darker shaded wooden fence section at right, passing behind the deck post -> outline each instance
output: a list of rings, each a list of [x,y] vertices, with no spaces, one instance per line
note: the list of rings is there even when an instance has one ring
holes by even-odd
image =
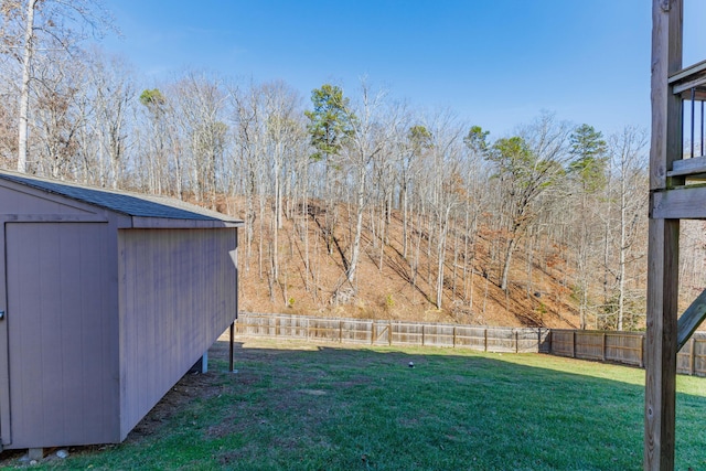
[[[644,367],[644,332],[552,329],[553,355]],[[676,355],[677,373],[706,376],[706,333],[696,332]]]

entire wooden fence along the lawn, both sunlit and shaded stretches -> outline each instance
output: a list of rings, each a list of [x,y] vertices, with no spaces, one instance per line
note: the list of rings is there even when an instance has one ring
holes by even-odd
[[[644,332],[486,328],[249,312],[239,314],[235,329],[243,335],[367,345],[448,346],[482,352],[539,352],[644,367]],[[678,352],[676,368],[682,374],[706,376],[706,332],[696,332]]]

